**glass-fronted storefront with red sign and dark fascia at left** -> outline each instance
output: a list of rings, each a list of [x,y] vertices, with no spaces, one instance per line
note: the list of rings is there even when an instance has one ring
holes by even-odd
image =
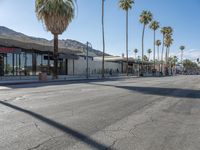
[[[75,54],[60,53],[58,70],[68,74],[68,60],[78,59]],[[0,46],[0,76],[31,76],[53,72],[53,52]]]

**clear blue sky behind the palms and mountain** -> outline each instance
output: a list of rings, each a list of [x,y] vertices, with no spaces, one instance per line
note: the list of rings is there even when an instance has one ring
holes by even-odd
[[[52,39],[35,16],[34,0],[0,0],[0,26],[6,26],[27,35]],[[60,39],[89,41],[96,49],[102,49],[101,0],[77,0],[78,11],[68,29]],[[105,2],[106,51],[114,55],[125,52],[125,13],[118,7],[118,0]],[[139,15],[142,10],[150,10],[161,26],[174,29],[173,54],[179,46],[185,45],[187,57],[200,57],[200,0],[135,0],[129,13],[129,50],[141,52],[142,25]],[[161,34],[157,32],[157,39]],[[145,51],[153,49],[153,32],[145,32]]]

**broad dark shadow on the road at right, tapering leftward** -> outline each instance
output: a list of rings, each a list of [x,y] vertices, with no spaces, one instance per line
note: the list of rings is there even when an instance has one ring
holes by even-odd
[[[121,88],[121,89],[126,89],[132,92],[138,92],[138,93],[149,94],[149,95],[200,99],[200,90],[193,90],[193,89],[142,87],[142,86],[141,87],[140,86],[118,86],[118,85],[108,85],[108,84],[98,84],[98,83],[90,83],[90,84]]]

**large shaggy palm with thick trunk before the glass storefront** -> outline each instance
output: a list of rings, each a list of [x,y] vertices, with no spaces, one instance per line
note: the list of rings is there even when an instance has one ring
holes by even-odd
[[[75,0],[35,0],[35,12],[47,31],[54,36],[54,72],[58,78],[58,35],[62,34],[74,18]]]

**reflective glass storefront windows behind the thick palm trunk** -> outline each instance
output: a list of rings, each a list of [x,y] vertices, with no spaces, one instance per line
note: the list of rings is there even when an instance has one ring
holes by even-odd
[[[2,53],[0,58],[0,73],[6,76],[30,76],[45,72],[53,74],[52,53],[38,53],[21,50],[20,53]],[[58,73],[67,74],[67,60],[58,60]]]

